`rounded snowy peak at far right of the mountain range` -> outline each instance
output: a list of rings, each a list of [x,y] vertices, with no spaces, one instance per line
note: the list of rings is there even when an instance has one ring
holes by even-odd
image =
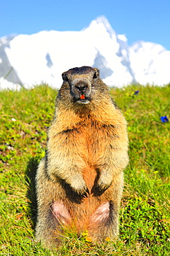
[[[160,44],[139,41],[129,48],[131,68],[135,73],[136,81],[141,84],[168,84],[169,57],[170,51]]]

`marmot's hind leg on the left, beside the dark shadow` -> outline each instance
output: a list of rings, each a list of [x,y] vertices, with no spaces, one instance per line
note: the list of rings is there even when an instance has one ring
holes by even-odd
[[[56,200],[57,183],[47,179],[43,158],[36,174],[38,216],[36,223],[36,241],[49,247],[61,244],[63,227],[70,223],[70,214],[62,201]]]

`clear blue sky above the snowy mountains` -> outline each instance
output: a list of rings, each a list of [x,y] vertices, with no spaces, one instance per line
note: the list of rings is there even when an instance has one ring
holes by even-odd
[[[0,37],[41,30],[81,30],[100,15],[107,17],[128,44],[138,40],[170,50],[169,0],[1,0]]]

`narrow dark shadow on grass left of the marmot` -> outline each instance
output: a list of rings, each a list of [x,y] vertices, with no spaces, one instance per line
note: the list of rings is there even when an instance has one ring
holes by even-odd
[[[36,188],[35,188],[35,176],[36,176],[36,169],[39,165],[39,158],[33,157],[30,158],[28,162],[27,169],[25,172],[25,180],[28,183],[28,192],[27,198],[30,204],[30,217],[32,219],[33,227],[36,226],[36,215],[37,215],[37,205],[36,205]]]

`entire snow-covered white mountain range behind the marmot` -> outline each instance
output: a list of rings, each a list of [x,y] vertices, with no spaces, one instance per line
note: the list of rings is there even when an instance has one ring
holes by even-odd
[[[41,31],[0,38],[0,88],[30,88],[45,82],[59,88],[61,73],[94,66],[109,86],[130,82],[168,84],[170,51],[150,42],[128,46],[105,17],[81,31]]]

